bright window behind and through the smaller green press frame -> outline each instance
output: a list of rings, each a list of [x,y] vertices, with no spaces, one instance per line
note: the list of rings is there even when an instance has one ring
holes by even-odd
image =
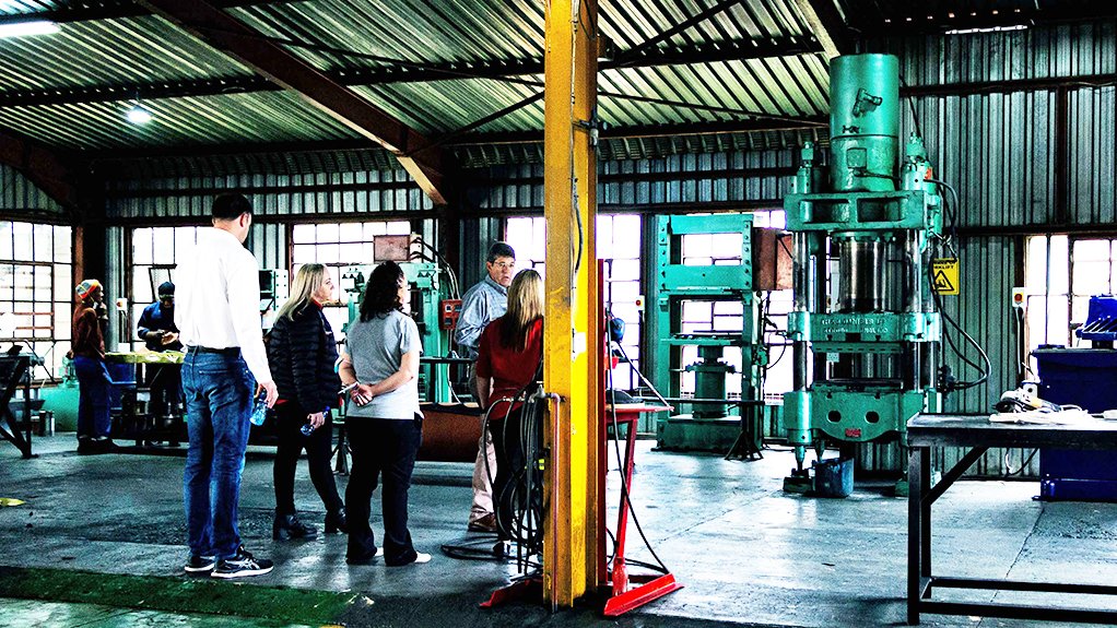
[[[753,226],[765,229],[784,229],[784,212],[756,211],[753,214]],[[682,238],[682,263],[685,265],[736,265],[741,263],[741,234],[701,233]],[[764,383],[766,396],[779,396],[791,390],[792,360],[786,339],[787,312],[792,308],[792,291],[779,290],[765,292],[762,299],[765,326],[764,342],[768,350],[768,366]],[[684,334],[701,331],[734,332],[744,327],[744,311],[741,302],[733,301],[684,301],[681,307],[682,321],[679,330]],[[725,347],[723,359],[741,373],[741,347]],[[698,347],[684,347],[680,354],[682,366],[698,361]],[[695,374],[684,371],[679,389],[684,395],[694,394]],[[741,378],[729,377],[726,380],[726,395],[729,398],[741,397]]]

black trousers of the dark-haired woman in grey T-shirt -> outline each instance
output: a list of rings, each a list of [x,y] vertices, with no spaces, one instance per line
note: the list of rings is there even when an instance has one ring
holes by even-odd
[[[422,442],[422,418],[350,417],[345,419],[345,434],[353,452],[353,466],[345,489],[350,526],[347,557],[359,559],[376,551],[369,518],[372,492],[382,480],[384,563],[414,562],[417,553],[408,530],[408,489]]]

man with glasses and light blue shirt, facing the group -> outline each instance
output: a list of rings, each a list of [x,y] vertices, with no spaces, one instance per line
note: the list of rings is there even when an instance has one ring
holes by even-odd
[[[477,359],[477,346],[485,327],[504,316],[508,309],[508,286],[516,274],[516,251],[506,242],[489,247],[485,263],[488,274],[461,297],[461,315],[454,332],[454,341],[461,348],[462,357]],[[476,381],[476,363],[469,367],[469,386]],[[474,390],[476,398],[477,392]],[[484,410],[484,408],[481,408]],[[488,431],[481,431],[474,463],[474,503],[469,509],[470,532],[496,532],[493,511],[493,483],[496,476],[496,451]]]

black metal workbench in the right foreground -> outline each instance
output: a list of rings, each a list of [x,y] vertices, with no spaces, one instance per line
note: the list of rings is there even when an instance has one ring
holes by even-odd
[[[919,624],[922,612],[1005,617],[1046,621],[1117,624],[1117,610],[993,602],[956,602],[932,599],[935,588],[1044,593],[1117,595],[1117,587],[1066,581],[1034,582],[934,576],[930,566],[930,506],[992,447],[1060,447],[1117,450],[1117,422],[1086,421],[1073,425],[991,423],[989,415],[920,415],[907,424],[908,482],[908,624]],[[943,479],[930,486],[930,448],[968,450]],[[1058,578],[1063,574],[1056,574]]]

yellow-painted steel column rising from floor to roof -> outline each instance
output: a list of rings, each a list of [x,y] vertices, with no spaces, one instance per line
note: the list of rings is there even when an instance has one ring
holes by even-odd
[[[598,574],[596,156],[590,123],[596,105],[596,0],[544,0],[544,214],[547,224],[543,379],[562,397],[548,413],[544,596],[569,607]],[[553,407],[553,406],[552,406]],[[556,425],[557,423],[557,425]],[[603,461],[600,461],[603,462]]]

